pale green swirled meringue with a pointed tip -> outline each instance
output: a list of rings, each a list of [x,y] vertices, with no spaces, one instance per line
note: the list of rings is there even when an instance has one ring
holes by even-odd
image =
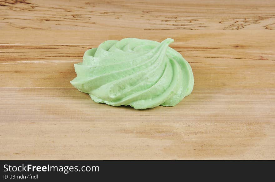
[[[71,84],[97,103],[135,109],[175,106],[193,90],[191,66],[168,45],[137,38],[105,41],[74,65]]]

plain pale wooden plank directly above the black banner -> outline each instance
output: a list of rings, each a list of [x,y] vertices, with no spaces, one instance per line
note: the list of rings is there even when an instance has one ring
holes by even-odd
[[[274,122],[66,120],[1,123],[0,158],[274,159]]]

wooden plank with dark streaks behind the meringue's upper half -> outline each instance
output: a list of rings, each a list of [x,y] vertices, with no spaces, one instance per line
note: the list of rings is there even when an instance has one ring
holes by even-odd
[[[162,41],[168,33],[93,31],[91,35],[89,31],[29,30],[16,38],[20,30],[9,31],[6,35],[4,32],[0,31],[0,39],[10,40],[10,44],[0,44],[1,87],[62,88],[73,88],[69,83],[76,76],[73,64],[82,61],[85,50],[108,39],[120,40],[133,35]],[[41,32],[44,36],[40,38]],[[175,39],[171,47],[192,66],[195,88],[275,88],[271,79],[275,64],[274,31],[268,34],[250,31],[249,35],[246,31],[169,31],[169,36]]]

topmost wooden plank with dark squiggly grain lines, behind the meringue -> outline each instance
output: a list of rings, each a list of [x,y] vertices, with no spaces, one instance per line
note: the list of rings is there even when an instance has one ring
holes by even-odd
[[[275,2],[56,1],[0,2],[0,27],[37,30],[273,30]]]

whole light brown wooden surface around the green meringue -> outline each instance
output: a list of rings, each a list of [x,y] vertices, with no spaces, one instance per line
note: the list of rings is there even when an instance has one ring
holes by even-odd
[[[275,1],[0,1],[0,159],[275,159]],[[69,81],[106,40],[190,63],[175,107],[93,102]]]

